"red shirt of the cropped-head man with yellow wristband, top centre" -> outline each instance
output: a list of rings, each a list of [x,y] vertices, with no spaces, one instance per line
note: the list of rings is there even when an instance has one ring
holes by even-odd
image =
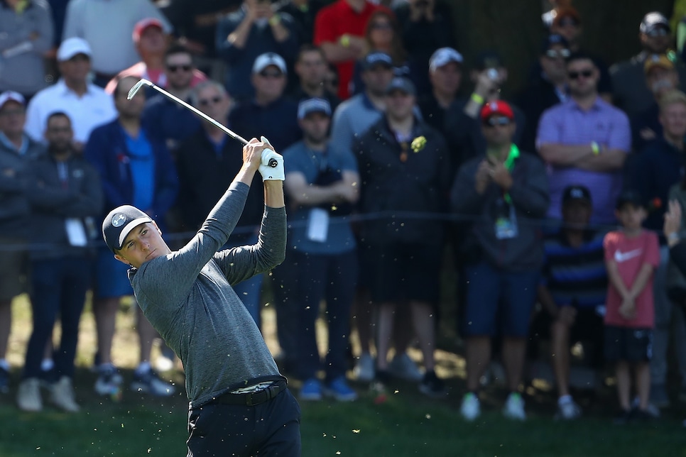
[[[338,70],[338,97],[350,97],[349,83],[355,60],[365,52],[364,29],[369,16],[385,6],[368,0],[337,0],[322,8],[315,18],[315,45],[320,46],[329,62]]]

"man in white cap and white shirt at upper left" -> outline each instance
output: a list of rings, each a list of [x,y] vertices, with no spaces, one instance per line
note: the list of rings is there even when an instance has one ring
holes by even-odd
[[[103,89],[88,81],[91,48],[82,38],[67,38],[58,48],[57,60],[62,77],[36,94],[28,104],[26,132],[43,141],[45,123],[55,111],[72,119],[75,149],[82,150],[94,127],[116,118],[114,100]]]

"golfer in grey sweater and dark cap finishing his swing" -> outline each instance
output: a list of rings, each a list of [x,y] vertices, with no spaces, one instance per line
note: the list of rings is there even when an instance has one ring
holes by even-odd
[[[143,314],[183,362],[187,456],[300,456],[300,407],[286,389],[263,337],[232,285],[285,257],[283,158],[253,138],[243,166],[186,246],[168,248],[155,221],[122,206],[102,223],[114,257],[131,265],[129,280]],[[217,252],[241,216],[259,172],[264,214],[253,246]]]

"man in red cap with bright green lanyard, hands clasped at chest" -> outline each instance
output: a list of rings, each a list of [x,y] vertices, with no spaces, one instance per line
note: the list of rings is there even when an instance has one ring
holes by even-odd
[[[540,159],[512,143],[516,125],[510,105],[489,101],[479,119],[486,150],[460,167],[450,195],[452,210],[468,221],[461,246],[467,394],[460,412],[469,421],[481,414],[479,378],[491,360],[491,336],[498,332],[510,390],[503,414],[524,420],[519,384],[543,263],[539,224],[548,210],[548,177]]]

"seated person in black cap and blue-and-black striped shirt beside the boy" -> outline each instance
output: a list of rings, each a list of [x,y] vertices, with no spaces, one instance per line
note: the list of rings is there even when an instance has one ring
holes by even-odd
[[[538,286],[538,314],[530,334],[550,329],[550,360],[557,387],[557,419],[577,419],[581,408],[570,395],[570,348],[577,341],[593,343],[592,367],[603,362],[601,306],[607,292],[604,263],[604,231],[593,230],[589,221],[591,192],[570,185],[562,195],[562,226],[545,238],[545,263]]]

